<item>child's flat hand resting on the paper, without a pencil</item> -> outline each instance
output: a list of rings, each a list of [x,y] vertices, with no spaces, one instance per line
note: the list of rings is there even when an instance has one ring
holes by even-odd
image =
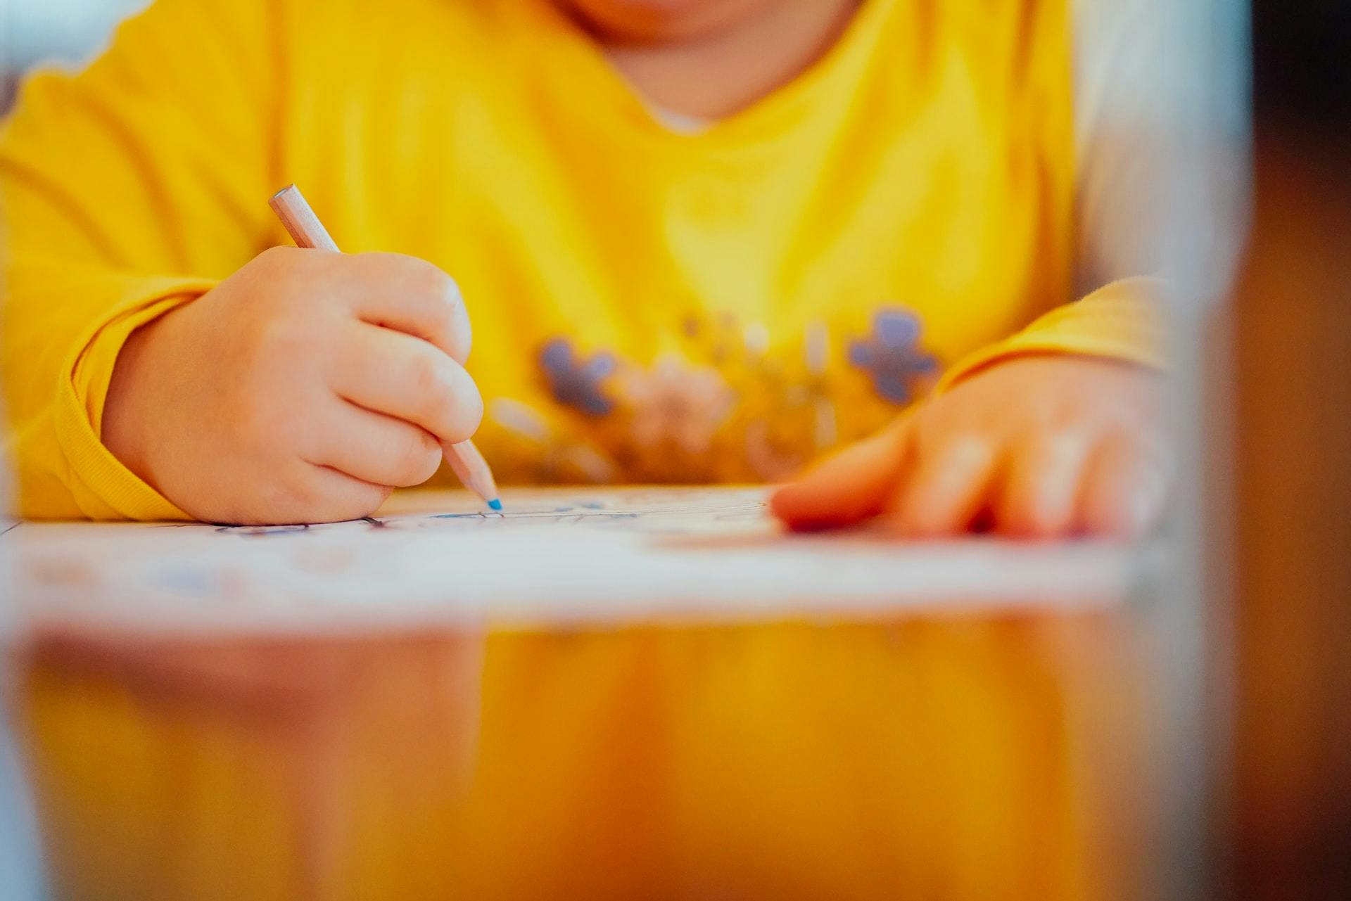
[[[797,530],[882,515],[915,536],[988,524],[1019,536],[1138,535],[1163,507],[1159,377],[1085,357],[1023,357],[924,401],[773,498]]]

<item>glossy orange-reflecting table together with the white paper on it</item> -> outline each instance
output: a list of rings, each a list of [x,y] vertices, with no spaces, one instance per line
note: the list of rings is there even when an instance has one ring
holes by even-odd
[[[511,527],[557,551],[511,573],[493,542],[413,525],[462,497],[377,517],[392,531],[290,534],[290,581],[267,535],[162,530],[147,569],[143,530],[115,561],[73,527],[16,530],[19,723],[61,896],[1140,892],[1154,686],[1133,552],[796,540],[755,494],[627,490],[596,523]],[[626,505],[646,505],[636,532],[604,519]],[[713,508],[740,513],[690,527]],[[372,542],[380,561],[345,557]],[[361,597],[397,548],[439,562]],[[493,574],[457,584],[459,548]],[[231,584],[239,566],[285,590]]]

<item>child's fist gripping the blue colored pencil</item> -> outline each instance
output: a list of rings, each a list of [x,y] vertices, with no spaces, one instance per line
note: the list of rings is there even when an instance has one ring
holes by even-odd
[[[478,428],[467,355],[465,304],[431,263],[274,247],[132,334],[103,440],[197,519],[365,516]]]

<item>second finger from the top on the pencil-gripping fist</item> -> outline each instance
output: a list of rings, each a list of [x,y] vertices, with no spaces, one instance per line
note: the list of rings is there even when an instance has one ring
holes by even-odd
[[[358,326],[340,339],[328,384],[346,400],[401,419],[455,444],[484,417],[484,400],[465,367],[420,338]]]

